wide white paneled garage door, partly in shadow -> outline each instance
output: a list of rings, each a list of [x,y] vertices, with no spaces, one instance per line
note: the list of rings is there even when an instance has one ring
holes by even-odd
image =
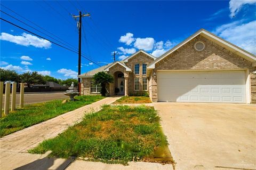
[[[158,72],[158,101],[245,103],[244,71]]]

